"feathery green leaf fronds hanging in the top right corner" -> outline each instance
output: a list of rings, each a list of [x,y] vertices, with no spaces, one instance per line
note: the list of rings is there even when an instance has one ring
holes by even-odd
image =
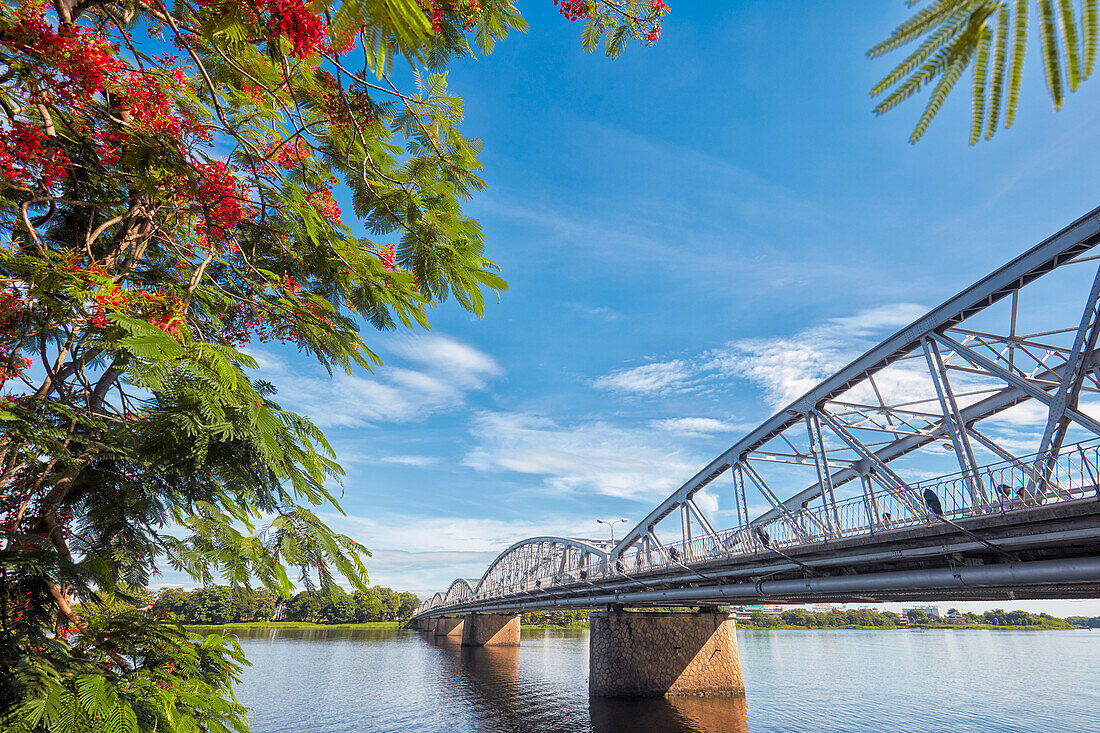
[[[867,55],[875,58],[917,44],[871,89],[871,96],[881,98],[875,113],[883,114],[933,87],[910,142],[925,133],[968,67],[970,144],[992,138],[1002,120],[1005,129],[1011,128],[1028,32],[1036,21],[1043,72],[1056,110],[1096,65],[1098,0],[910,0],[909,4],[923,7]]]

